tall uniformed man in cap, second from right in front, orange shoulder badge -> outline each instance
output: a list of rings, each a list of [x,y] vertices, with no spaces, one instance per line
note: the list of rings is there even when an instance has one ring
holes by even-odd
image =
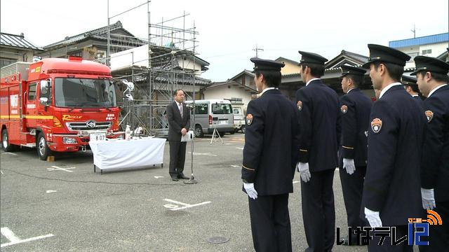
[[[368,133],[368,167],[363,185],[363,214],[370,226],[396,227],[396,237],[408,235],[408,218],[421,216],[420,161],[427,120],[399,82],[410,56],[383,45],[368,44],[374,88]],[[373,234],[369,251],[413,251],[405,241],[392,246],[391,237],[378,245]]]

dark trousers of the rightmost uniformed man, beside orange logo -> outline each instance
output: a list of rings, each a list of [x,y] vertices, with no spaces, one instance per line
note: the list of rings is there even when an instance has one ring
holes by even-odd
[[[433,210],[441,217],[443,225],[429,225],[429,246],[420,246],[421,252],[449,249],[449,202],[436,202]],[[427,219],[427,211],[422,218]]]

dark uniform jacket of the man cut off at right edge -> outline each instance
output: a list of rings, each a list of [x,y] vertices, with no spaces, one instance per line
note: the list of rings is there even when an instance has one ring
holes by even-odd
[[[424,100],[427,131],[421,163],[422,188],[434,188],[437,202],[449,201],[449,85]],[[437,204],[438,207],[438,204]]]

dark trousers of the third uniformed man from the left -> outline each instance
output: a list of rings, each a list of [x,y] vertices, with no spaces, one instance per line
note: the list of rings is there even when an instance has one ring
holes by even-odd
[[[340,167],[340,181],[342,181],[344,207],[346,208],[348,227],[369,227],[366,220],[360,218],[363,181],[365,181],[366,166],[356,167],[356,171],[349,175],[346,169]],[[352,230],[352,241],[356,242],[357,235]],[[349,234],[348,234],[349,235]]]

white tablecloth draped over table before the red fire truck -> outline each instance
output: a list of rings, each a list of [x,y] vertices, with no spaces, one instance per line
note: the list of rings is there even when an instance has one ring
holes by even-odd
[[[149,167],[163,164],[166,139],[90,141],[93,165],[100,169]]]

